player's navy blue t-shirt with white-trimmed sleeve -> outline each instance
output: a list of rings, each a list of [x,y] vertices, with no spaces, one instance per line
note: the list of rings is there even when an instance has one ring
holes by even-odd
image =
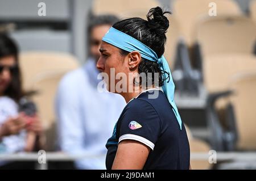
[[[112,168],[122,140],[136,140],[151,149],[143,169],[189,169],[190,151],[184,124],[180,130],[172,106],[160,90],[142,92],[123,109],[106,144],[106,169]]]

